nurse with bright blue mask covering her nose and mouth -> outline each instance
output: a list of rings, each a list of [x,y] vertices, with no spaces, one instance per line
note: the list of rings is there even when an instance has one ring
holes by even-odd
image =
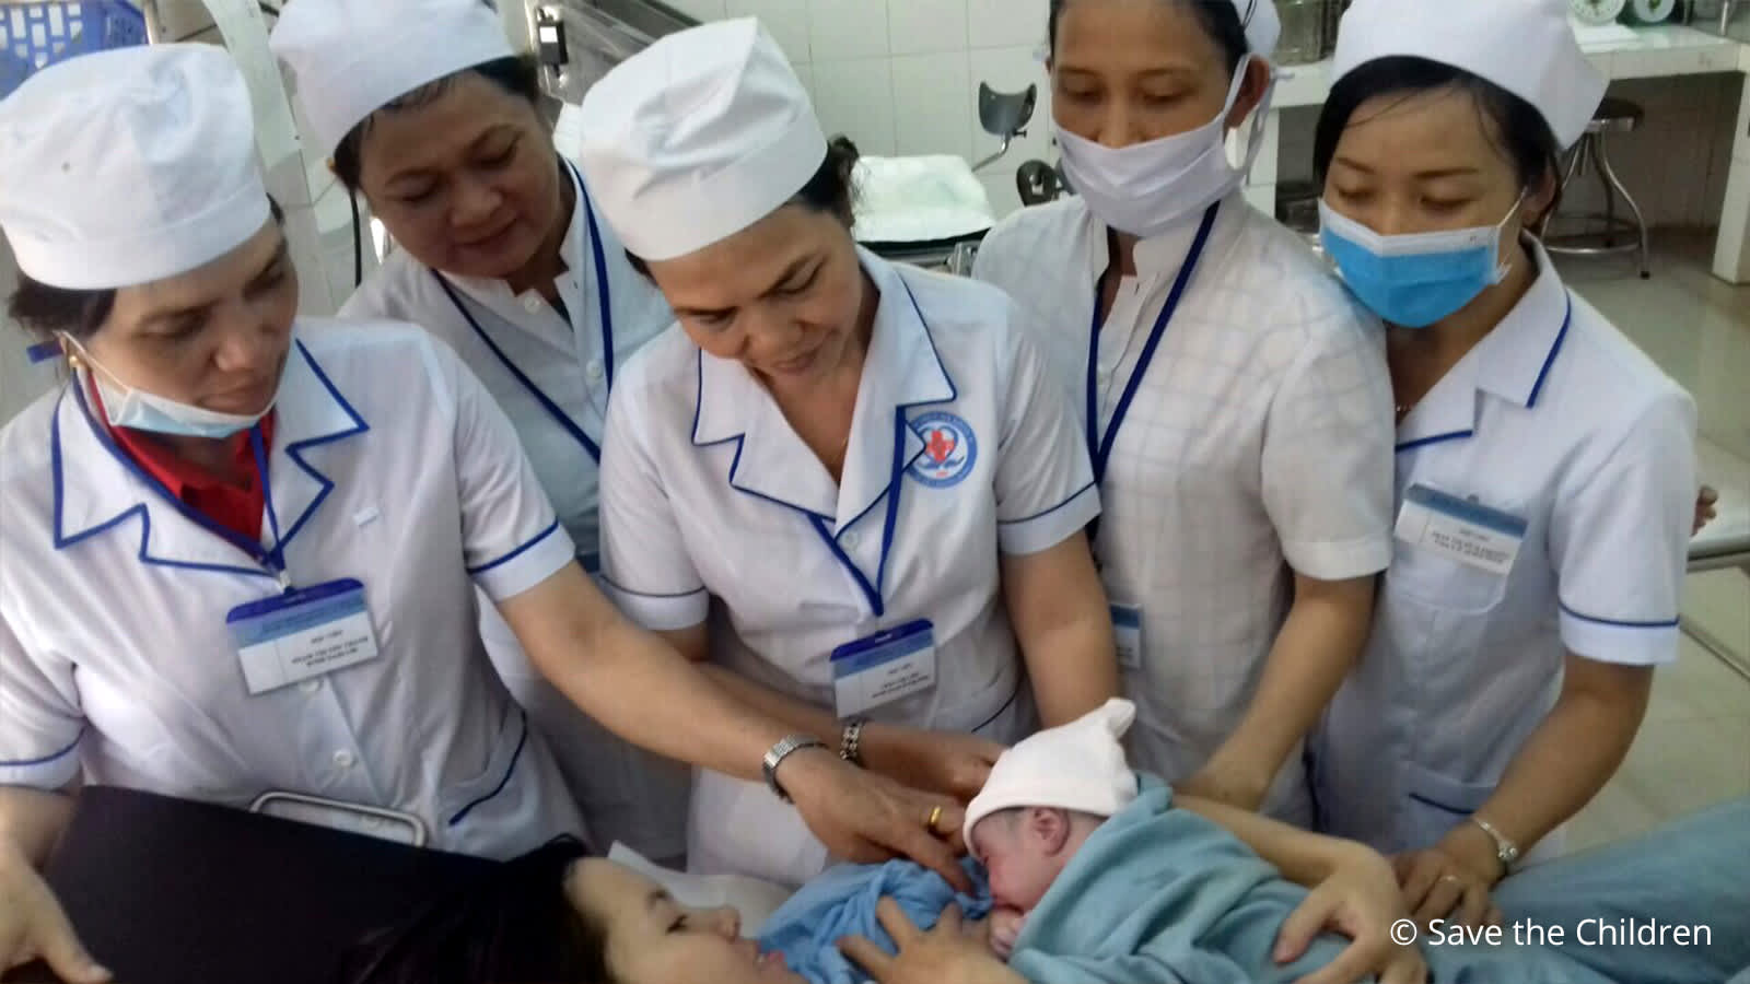
[[[1323,825],[1421,919],[1610,779],[1676,657],[1696,411],[1533,238],[1605,91],[1561,0],[1360,0],[1320,121],[1325,245],[1390,326],[1396,555],[1316,746]]]

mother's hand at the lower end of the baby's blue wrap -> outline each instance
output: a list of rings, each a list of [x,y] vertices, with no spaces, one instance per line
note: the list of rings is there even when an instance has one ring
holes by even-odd
[[[1297,984],[1423,984],[1428,963],[1414,945],[1393,940],[1393,924],[1407,914],[1391,865],[1356,844],[1334,865],[1330,875],[1307,895],[1276,935],[1276,963],[1306,956],[1320,933],[1354,940],[1318,972]]]

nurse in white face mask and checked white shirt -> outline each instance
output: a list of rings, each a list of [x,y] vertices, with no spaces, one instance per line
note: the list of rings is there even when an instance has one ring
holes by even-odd
[[[1312,819],[1302,739],[1391,560],[1379,324],[1241,196],[1269,110],[1267,0],[1054,0],[1052,112],[1080,191],[998,226],[975,277],[1074,392],[1106,515],[1136,762]]]

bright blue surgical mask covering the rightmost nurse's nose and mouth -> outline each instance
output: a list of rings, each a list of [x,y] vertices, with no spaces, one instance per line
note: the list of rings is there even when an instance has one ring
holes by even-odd
[[[1320,242],[1368,310],[1388,324],[1428,327],[1507,278],[1502,233],[1516,212],[1517,201],[1494,226],[1382,236],[1321,200]]]

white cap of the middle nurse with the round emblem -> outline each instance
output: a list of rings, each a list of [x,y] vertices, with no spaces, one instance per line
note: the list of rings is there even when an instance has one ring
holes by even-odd
[[[826,135],[760,21],[668,35],[583,96],[578,163],[634,256],[674,259],[765,219],[826,159]]]

